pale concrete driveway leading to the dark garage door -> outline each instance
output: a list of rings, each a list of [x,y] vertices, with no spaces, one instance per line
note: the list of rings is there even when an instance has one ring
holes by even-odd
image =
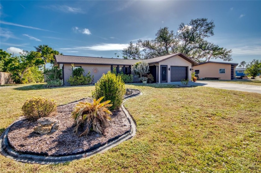
[[[181,82],[169,82],[164,84],[180,85]],[[229,90],[236,90],[236,91],[246,91],[246,92],[261,94],[261,86],[257,86],[257,85],[233,84],[228,82],[216,82],[216,81],[215,82],[211,82],[211,81],[189,82],[189,85],[205,86],[205,87],[212,87],[212,88],[219,88],[219,89],[229,89]]]

